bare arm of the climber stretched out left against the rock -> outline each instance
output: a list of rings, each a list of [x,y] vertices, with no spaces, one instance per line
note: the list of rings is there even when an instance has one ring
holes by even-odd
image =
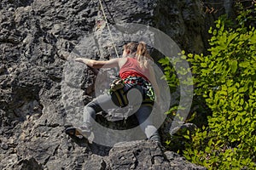
[[[77,62],[83,63],[85,65],[88,65],[92,68],[99,69],[104,66],[104,68],[112,68],[119,66],[119,59],[109,59],[107,61],[100,61],[95,59],[84,59],[84,58],[77,58],[74,59]]]

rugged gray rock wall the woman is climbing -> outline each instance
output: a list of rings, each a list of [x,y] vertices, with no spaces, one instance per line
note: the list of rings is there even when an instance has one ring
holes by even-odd
[[[202,52],[204,14],[198,0],[105,0],[110,25],[139,23],[154,26],[180,48]],[[107,8],[108,6],[108,8]],[[108,12],[107,12],[108,11]],[[105,27],[104,27],[105,26]],[[102,28],[103,27],[103,28]],[[93,35],[104,42],[107,27],[97,0],[3,0],[0,3],[0,169],[204,169],[148,141],[113,148],[70,139],[64,133],[71,111],[94,95],[93,71],[68,62],[81,39]],[[118,47],[124,40],[116,40]],[[113,45],[98,45],[88,58],[109,59]],[[121,49],[119,49],[121,54]],[[68,72],[82,77],[65,75]],[[67,74],[68,75],[68,74]],[[72,88],[63,92],[63,82]],[[61,91],[62,89],[62,91]],[[79,92],[76,90],[79,89]],[[82,90],[81,90],[82,89]],[[129,145],[130,144],[130,145]]]

